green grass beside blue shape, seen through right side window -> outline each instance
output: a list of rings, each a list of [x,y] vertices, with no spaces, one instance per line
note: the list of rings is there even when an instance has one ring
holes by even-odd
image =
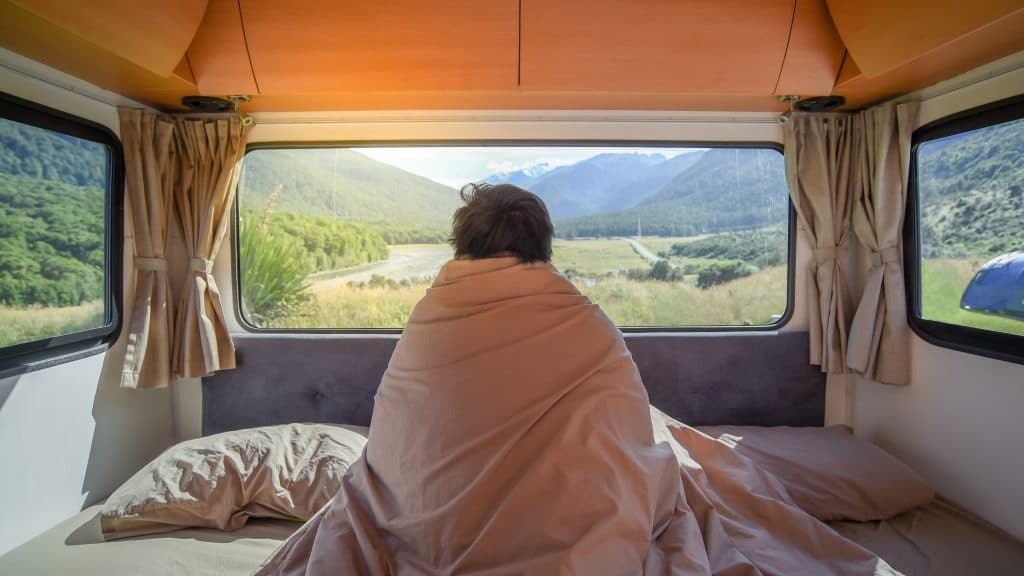
[[[1024,335],[1024,320],[966,311],[961,296],[985,259],[935,258],[922,263],[922,317],[994,332]]]

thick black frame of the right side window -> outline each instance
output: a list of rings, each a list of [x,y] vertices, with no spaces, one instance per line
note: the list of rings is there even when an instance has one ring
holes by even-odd
[[[922,145],[929,141],[1020,119],[1024,119],[1024,94],[971,108],[929,122],[914,130],[910,140],[907,208],[903,221],[903,273],[907,323],[910,329],[936,346],[1015,364],[1024,364],[1024,336],[928,320],[921,315],[923,297],[918,152]]]

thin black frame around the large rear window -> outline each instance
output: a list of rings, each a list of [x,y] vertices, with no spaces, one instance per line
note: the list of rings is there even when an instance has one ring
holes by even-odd
[[[246,146],[246,154],[258,150],[296,150],[331,148],[511,148],[511,147],[590,147],[590,148],[722,148],[774,150],[784,163],[785,153],[780,142],[770,140],[653,140],[653,139],[411,139],[411,140],[311,140],[311,141],[258,141]],[[245,162],[243,161],[243,170]],[[240,179],[241,181],[241,179]],[[243,330],[254,334],[351,334],[388,335],[401,334],[404,328],[261,328],[254,326],[242,314],[242,273],[239,265],[239,194],[236,194],[231,217],[231,282],[234,293],[232,308],[236,321]],[[772,324],[760,326],[617,326],[625,334],[651,333],[707,333],[707,332],[775,332],[794,316],[795,279],[797,265],[797,217],[793,198],[786,194],[786,294],[785,310]]]

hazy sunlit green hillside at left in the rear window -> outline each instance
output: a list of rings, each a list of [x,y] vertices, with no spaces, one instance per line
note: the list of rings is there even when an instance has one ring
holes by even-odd
[[[245,210],[273,209],[360,223],[447,230],[459,206],[454,189],[344,149],[255,150],[239,182]]]

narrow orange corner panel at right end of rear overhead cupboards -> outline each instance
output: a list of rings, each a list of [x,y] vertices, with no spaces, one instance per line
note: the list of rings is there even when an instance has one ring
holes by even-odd
[[[802,96],[831,93],[845,52],[825,0],[797,0],[790,45],[775,93]]]

